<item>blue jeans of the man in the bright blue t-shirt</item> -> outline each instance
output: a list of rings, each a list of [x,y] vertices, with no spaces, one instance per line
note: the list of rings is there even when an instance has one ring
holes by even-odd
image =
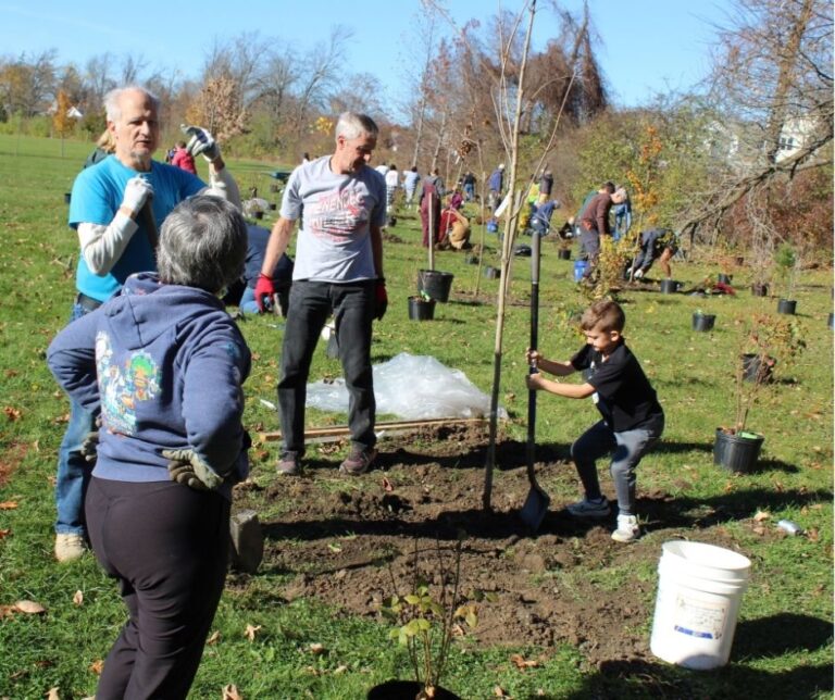
[[[70,321],[80,318],[88,313],[80,304],[73,305]],[[92,472],[92,463],[82,455],[82,443],[96,425],[96,414],[86,411],[79,403],[70,399],[70,423],[66,425],[64,439],[58,451],[58,475],[55,477],[55,507],[58,518],[55,532],[80,535],[84,537],[84,496]]]

